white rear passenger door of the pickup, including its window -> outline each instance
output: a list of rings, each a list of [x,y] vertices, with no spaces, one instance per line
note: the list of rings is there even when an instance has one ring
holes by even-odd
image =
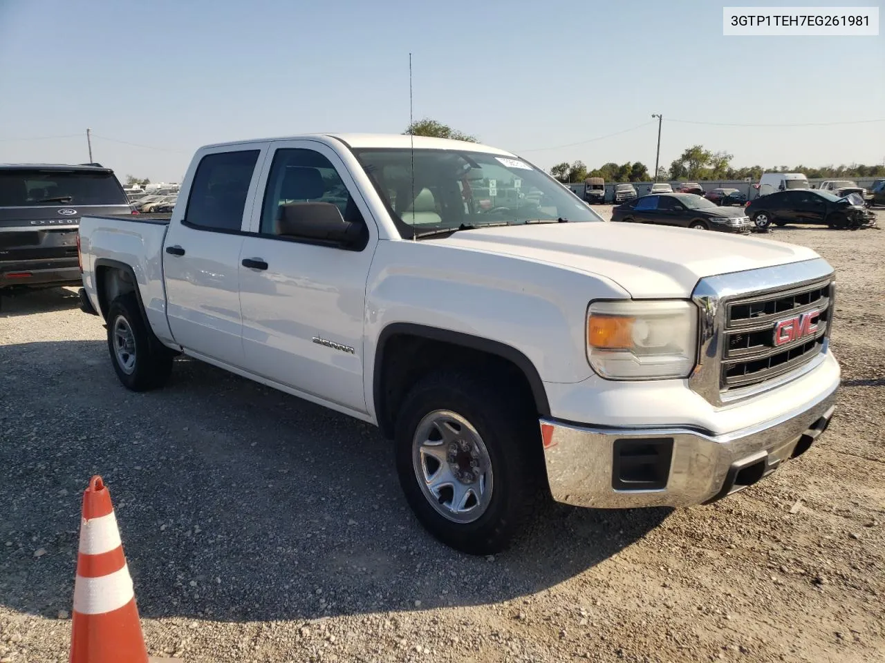
[[[173,213],[163,270],[175,342],[206,359],[243,366],[240,252],[266,144],[209,150]],[[185,199],[182,198],[182,201]]]

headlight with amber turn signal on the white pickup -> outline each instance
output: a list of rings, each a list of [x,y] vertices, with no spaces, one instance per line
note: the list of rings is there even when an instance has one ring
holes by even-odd
[[[697,309],[689,301],[595,301],[587,312],[587,358],[612,380],[689,377]]]

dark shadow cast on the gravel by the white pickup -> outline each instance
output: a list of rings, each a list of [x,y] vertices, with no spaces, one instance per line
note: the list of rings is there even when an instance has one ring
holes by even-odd
[[[94,473],[111,490],[143,617],[312,620],[518,599],[670,513],[550,505],[507,552],[470,557],[421,529],[372,426],[186,359],[165,389],[127,392],[100,340],[0,347],[0,367],[12,362],[0,604],[22,612],[70,610]]]

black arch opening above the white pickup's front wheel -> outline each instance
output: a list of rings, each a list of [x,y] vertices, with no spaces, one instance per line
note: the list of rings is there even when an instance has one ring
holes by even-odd
[[[433,356],[428,356],[428,354]],[[422,324],[392,323],[381,330],[373,372],[375,418],[385,436],[393,437],[396,404],[419,377],[445,359],[477,362],[512,371],[539,416],[550,415],[550,402],[535,365],[517,348],[499,341]]]

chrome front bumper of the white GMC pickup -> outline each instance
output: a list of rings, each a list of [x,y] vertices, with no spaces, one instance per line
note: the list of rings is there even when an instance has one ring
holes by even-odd
[[[727,435],[603,429],[541,420],[550,492],[578,507],[688,507],[725,497],[804,453],[829,424],[835,389]],[[651,487],[649,487],[651,486]]]

